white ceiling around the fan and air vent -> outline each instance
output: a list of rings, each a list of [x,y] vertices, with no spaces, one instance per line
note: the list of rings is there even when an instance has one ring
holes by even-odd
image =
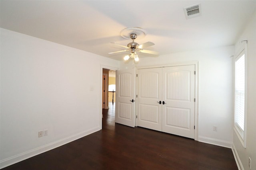
[[[183,8],[202,3],[202,16],[186,20]],[[126,27],[148,33],[139,44],[160,55],[234,45],[256,9],[256,0],[0,0],[0,27],[116,60],[126,53],[110,42],[127,45],[120,37]],[[147,57],[140,53],[140,57]]]

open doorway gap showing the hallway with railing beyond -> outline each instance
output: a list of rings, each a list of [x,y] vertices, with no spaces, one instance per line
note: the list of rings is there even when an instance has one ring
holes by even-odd
[[[102,70],[102,129],[114,126],[116,109],[116,71]]]

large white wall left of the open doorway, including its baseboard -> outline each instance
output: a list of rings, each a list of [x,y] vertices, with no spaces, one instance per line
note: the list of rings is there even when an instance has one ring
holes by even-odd
[[[101,65],[118,61],[0,33],[0,168],[100,130]]]

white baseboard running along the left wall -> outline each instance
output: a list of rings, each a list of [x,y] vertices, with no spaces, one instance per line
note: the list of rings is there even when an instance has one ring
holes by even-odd
[[[60,147],[62,145],[65,145],[65,144],[70,143],[72,141],[75,141],[79,138],[90,135],[91,133],[94,133],[94,132],[99,131],[99,130],[100,130],[100,127],[94,127],[92,129],[88,129],[87,131],[83,131],[83,132],[77,133],[75,135],[72,135],[70,137],[66,137],[64,139],[61,139],[59,141],[49,143],[49,144],[44,145],[42,147],[38,147],[36,149],[29,150],[27,152],[12,156],[10,158],[0,160],[0,169],[5,168],[6,166],[10,166],[12,164],[15,164],[17,162],[20,162],[22,160],[31,158],[33,156],[36,156],[36,155],[41,154],[43,152],[46,152],[48,150],[52,150],[54,148]]]

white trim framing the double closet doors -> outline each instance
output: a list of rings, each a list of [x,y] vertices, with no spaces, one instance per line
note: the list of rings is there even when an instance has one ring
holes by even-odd
[[[178,62],[178,63],[170,63],[170,64],[164,64],[164,65],[149,65],[149,66],[141,66],[141,67],[136,67],[136,74],[138,73],[138,69],[143,69],[143,68],[158,68],[158,67],[170,67],[170,66],[186,66],[186,65],[195,65],[195,70],[196,70],[196,76],[195,76],[195,141],[198,141],[198,116],[199,116],[199,94],[198,94],[198,89],[199,89],[199,61],[188,61],[188,62]],[[136,87],[137,87],[137,81],[136,81]],[[136,88],[136,93],[137,93],[137,88]],[[136,112],[137,115],[137,112]],[[135,116],[136,116],[135,115]],[[136,121],[136,126],[137,126],[137,121]]]

